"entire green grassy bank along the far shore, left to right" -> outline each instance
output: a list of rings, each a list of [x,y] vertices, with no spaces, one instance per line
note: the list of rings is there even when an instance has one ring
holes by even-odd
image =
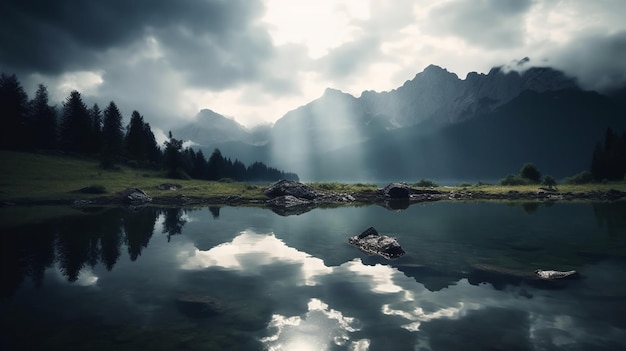
[[[173,180],[162,172],[120,167],[119,170],[103,170],[98,162],[62,154],[19,153],[0,150],[0,201],[16,200],[75,200],[114,195],[128,187],[138,187],[152,197],[186,195],[192,197],[219,197],[239,195],[244,199],[264,199],[263,185],[238,182],[212,182],[202,180]],[[182,188],[176,192],[158,190],[163,183],[174,183]],[[77,192],[90,185],[101,185],[104,195]],[[319,191],[341,193],[368,193],[377,190],[373,184],[311,183]],[[559,192],[606,192],[610,189],[626,191],[626,183],[558,185]],[[477,184],[464,187],[438,187],[442,192],[481,192],[487,194],[536,193],[537,185],[501,186]]]

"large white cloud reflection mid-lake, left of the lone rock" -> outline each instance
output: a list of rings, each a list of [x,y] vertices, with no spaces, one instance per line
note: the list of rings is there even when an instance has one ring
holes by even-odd
[[[305,285],[315,285],[315,276],[332,272],[321,259],[285,245],[273,234],[261,235],[250,230],[208,251],[193,248],[182,252],[179,258],[183,260],[183,269],[221,267],[240,270],[244,274],[259,274],[262,266],[273,263],[297,263],[302,265]]]

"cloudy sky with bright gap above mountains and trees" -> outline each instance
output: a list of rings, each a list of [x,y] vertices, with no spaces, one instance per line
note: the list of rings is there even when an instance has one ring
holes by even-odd
[[[0,71],[61,104],[115,101],[167,130],[208,108],[252,127],[328,87],[360,96],[430,64],[464,79],[529,57],[626,83],[623,0],[3,0]]]

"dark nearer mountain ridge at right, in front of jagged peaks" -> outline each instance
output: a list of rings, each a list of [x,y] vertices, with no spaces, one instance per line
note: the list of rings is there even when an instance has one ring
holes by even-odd
[[[493,181],[533,162],[560,179],[588,169],[606,129],[626,131],[625,117],[626,108],[595,92],[526,91],[493,112],[433,133],[419,125],[399,128],[310,155],[317,171],[301,178]]]

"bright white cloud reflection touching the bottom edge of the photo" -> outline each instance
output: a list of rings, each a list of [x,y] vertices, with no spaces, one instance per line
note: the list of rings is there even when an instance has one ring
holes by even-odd
[[[328,350],[332,344],[349,350],[365,351],[369,340],[350,341],[349,333],[360,330],[358,321],[345,317],[340,311],[329,309],[319,299],[311,299],[304,317],[273,315],[269,330],[271,336],[261,339],[268,350]]]

